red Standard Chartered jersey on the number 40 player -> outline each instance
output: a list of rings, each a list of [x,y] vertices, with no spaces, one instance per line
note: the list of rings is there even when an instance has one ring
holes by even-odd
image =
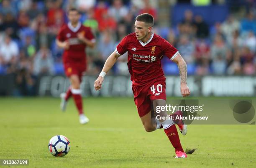
[[[159,77],[164,77],[161,59],[168,56],[174,59],[179,51],[169,42],[152,32],[146,43],[138,41],[135,33],[125,36],[116,47],[116,53],[128,51],[128,69],[134,85],[143,85]]]

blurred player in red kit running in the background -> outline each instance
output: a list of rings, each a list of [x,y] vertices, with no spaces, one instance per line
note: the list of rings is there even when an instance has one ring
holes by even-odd
[[[71,82],[67,92],[61,94],[60,107],[65,111],[68,99],[73,97],[79,112],[79,121],[85,124],[89,119],[84,115],[80,84],[87,66],[85,48],[94,47],[95,38],[91,29],[83,26],[79,21],[80,17],[77,9],[72,8],[68,11],[69,23],[61,27],[56,43],[60,48],[64,48],[64,70]]]

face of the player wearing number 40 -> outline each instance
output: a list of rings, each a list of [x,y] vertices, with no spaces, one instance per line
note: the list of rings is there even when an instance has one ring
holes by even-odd
[[[148,38],[148,36],[151,36],[150,32],[152,27],[148,27],[145,22],[136,20],[134,27],[137,40],[143,41],[143,39],[146,39]]]

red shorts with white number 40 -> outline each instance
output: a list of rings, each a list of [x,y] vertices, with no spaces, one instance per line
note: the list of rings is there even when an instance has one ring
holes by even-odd
[[[132,86],[134,102],[140,117],[143,117],[151,111],[151,102],[153,100],[166,100],[165,87],[165,78],[154,80],[143,86]]]

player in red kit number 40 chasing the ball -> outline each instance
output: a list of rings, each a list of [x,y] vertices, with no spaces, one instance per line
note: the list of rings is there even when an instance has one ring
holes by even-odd
[[[187,64],[179,51],[165,39],[152,31],[154,18],[148,13],[138,15],[135,22],[135,33],[125,36],[110,54],[99,77],[95,81],[95,90],[100,90],[105,75],[112,68],[118,57],[128,51],[128,69],[133,83],[132,90],[138,115],[147,132],[152,132],[160,127],[175,148],[176,158],[187,158],[179,140],[176,126],[172,120],[151,120],[151,104],[165,106],[165,77],[161,68],[161,59],[167,56],[177,63],[181,77],[181,94],[183,97],[190,94],[187,87]],[[161,116],[167,116],[166,111]],[[179,124],[183,135],[187,133],[187,125]]]

